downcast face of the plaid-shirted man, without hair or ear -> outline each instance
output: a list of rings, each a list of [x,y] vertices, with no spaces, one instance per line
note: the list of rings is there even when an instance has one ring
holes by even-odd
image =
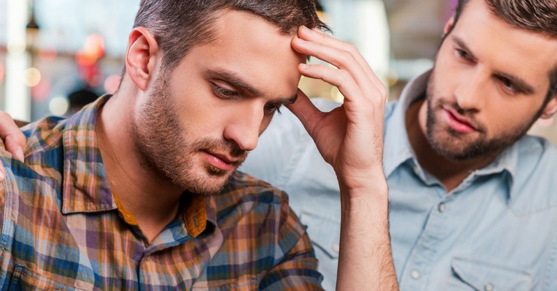
[[[249,13],[223,13],[217,40],[161,72],[138,104],[134,132],[155,171],[195,194],[216,194],[282,104],[297,93],[305,56],[291,36]]]

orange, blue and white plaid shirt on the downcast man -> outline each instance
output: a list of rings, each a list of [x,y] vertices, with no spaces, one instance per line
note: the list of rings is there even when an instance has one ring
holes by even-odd
[[[108,99],[26,127],[26,164],[1,151],[1,290],[320,290],[287,196],[243,173],[219,196],[185,194],[148,244],[102,165],[95,121]]]

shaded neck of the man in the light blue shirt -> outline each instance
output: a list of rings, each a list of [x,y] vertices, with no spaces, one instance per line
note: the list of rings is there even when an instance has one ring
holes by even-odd
[[[447,193],[455,189],[470,173],[483,168],[499,155],[499,152],[496,152],[465,161],[447,159],[439,155],[427,141],[426,122],[427,102],[418,101],[411,104],[406,111],[406,129],[410,144],[422,168],[439,179]]]

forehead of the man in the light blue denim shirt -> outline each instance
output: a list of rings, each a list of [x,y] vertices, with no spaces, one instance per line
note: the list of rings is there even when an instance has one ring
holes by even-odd
[[[485,0],[470,0],[451,34],[478,61],[532,84],[547,84],[557,65],[556,39],[508,24],[489,10]]]

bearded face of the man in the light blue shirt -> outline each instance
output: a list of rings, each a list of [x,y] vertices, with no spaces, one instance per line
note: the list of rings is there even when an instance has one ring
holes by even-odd
[[[544,100],[556,51],[557,40],[510,26],[483,0],[469,1],[439,49],[420,111],[432,148],[455,160],[496,154],[553,113],[555,98]]]

